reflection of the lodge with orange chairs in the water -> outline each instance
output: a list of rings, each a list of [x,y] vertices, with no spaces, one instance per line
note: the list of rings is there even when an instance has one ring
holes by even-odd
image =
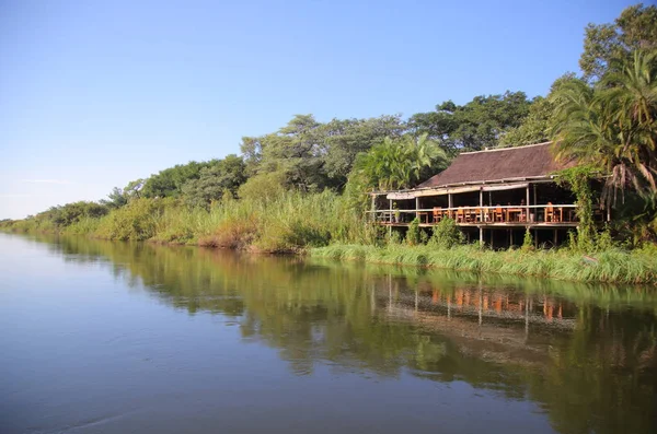
[[[481,359],[544,363],[555,333],[576,327],[576,307],[546,296],[479,286],[401,291],[388,279],[376,291],[380,314],[438,332]],[[383,305],[382,305],[383,304]]]

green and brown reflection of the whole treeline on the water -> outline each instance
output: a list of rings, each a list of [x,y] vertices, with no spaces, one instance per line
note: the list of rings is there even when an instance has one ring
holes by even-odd
[[[175,308],[237,318],[245,340],[279,349],[299,375],[316,363],[393,377],[406,370],[532,399],[563,433],[654,427],[657,297],[649,289],[82,238],[50,247],[67,260],[111,267]]]

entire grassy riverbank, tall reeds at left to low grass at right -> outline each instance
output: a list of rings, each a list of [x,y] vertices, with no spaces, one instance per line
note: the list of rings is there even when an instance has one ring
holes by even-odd
[[[454,235],[454,231],[458,234],[456,227],[440,227],[428,245],[424,244],[426,237],[423,241],[418,236],[411,246],[408,241],[399,237],[389,239],[387,231],[364,222],[343,197],[328,191],[228,200],[208,209],[189,208],[173,199],[137,199],[99,216],[89,215],[91,212],[84,203],[67,207],[31,219],[0,222],[0,230],[268,254],[308,254],[339,260],[579,282],[657,284],[657,246],[652,244],[623,249],[601,238],[593,249],[575,246],[499,251],[479,245],[459,245],[462,239]]]

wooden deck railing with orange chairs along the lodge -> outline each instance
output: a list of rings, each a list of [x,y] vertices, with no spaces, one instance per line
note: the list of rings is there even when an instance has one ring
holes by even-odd
[[[577,223],[576,204],[533,204],[494,207],[453,207],[417,210],[368,211],[376,222],[382,224],[411,223],[416,216],[420,224],[436,224],[450,218],[459,224],[495,223]]]

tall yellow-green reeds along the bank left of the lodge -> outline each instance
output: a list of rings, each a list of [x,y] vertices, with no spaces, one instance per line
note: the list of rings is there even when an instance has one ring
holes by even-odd
[[[299,251],[332,242],[369,243],[373,237],[373,231],[330,191],[230,199],[209,209],[189,208],[175,199],[137,199],[100,219],[82,218],[68,226],[33,218],[3,227],[270,253]]]

